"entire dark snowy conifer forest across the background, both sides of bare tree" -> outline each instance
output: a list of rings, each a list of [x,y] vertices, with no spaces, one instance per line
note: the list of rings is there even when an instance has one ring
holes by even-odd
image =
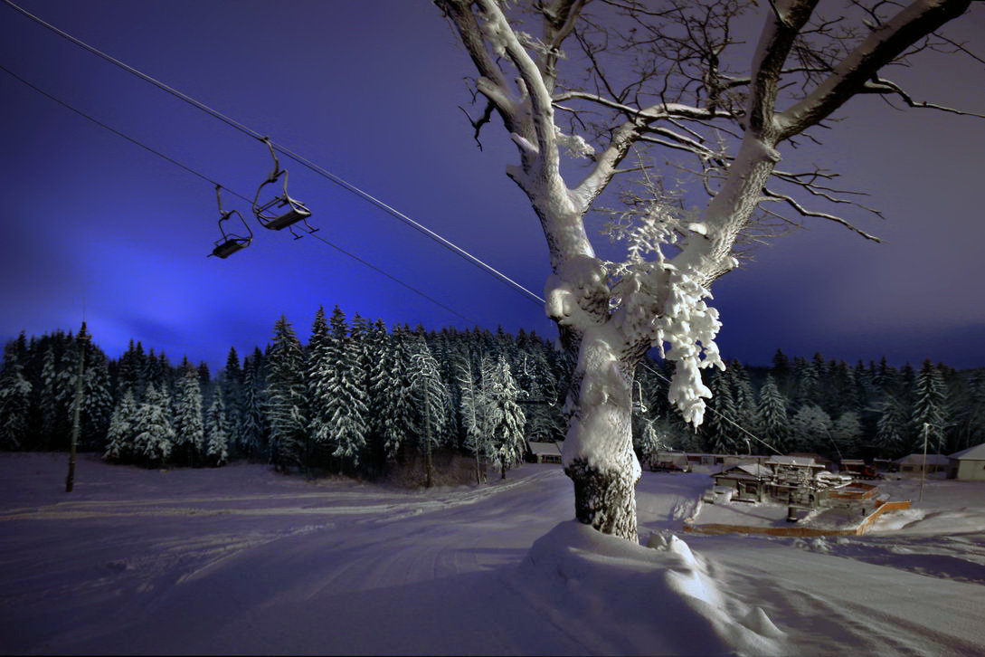
[[[0,369],[0,447],[68,448],[80,353],[85,353],[80,447],[109,461],[148,467],[268,462],[308,474],[377,477],[415,455],[469,456],[505,472],[524,439],[563,438],[572,363],[549,341],[520,330],[426,331],[336,307],[315,313],[302,345],[281,317],[265,349],[235,349],[213,377],[206,363],[172,365],[131,341],[117,360],[90,339],[22,333]],[[816,452],[831,458],[951,453],[985,441],[985,369],[919,370],[883,359],[792,360],[770,367],[732,361],[705,370],[713,397],[694,432],[667,402],[672,363],[637,369],[633,438],[660,448],[712,453]]]

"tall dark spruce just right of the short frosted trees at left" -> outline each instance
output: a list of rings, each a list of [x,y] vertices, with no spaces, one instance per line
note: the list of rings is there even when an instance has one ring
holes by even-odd
[[[267,359],[266,408],[270,425],[270,462],[282,472],[302,465],[307,432],[304,354],[288,318],[274,325]]]

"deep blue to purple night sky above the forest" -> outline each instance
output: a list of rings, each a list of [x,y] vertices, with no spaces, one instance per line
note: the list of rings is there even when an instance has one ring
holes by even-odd
[[[458,105],[473,74],[429,2],[100,0],[18,4],[371,193],[541,295],[536,217]],[[949,33],[985,55],[985,7]],[[985,65],[931,53],[893,71],[917,99],[985,112]],[[266,147],[0,4],[0,65],[170,158],[252,198]],[[218,366],[270,339],[282,314],[306,339],[319,305],[388,325],[473,324],[556,335],[543,308],[325,178],[282,158],[327,244],[254,226],[253,244],[206,258],[219,237],[206,181],[110,134],[0,72],[0,339],[76,330],[85,312],[110,357],[132,338]],[[477,108],[470,108],[475,115]],[[783,151],[871,193],[886,222],[848,213],[868,242],[810,220],[719,280],[727,359],[789,355],[985,366],[985,119],[853,99],[822,147]],[[225,202],[249,217],[248,204]],[[600,221],[593,221],[599,225]],[[605,240],[599,237],[600,243]]]

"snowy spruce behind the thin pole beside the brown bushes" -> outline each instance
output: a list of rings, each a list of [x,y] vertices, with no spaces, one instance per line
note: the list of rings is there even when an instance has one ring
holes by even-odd
[[[447,419],[448,388],[441,380],[438,363],[431,356],[427,342],[419,338],[410,359],[411,389],[418,416],[418,450],[425,455],[426,486],[433,483],[432,452],[440,444]]]

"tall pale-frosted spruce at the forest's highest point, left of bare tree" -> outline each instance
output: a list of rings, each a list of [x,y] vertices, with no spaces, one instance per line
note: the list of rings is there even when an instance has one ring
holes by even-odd
[[[328,444],[333,446],[332,458],[339,472],[360,465],[365,449],[366,391],[365,372],[361,364],[361,337],[353,339],[346,326],[346,315],[335,306],[329,319],[331,341],[327,368],[321,372],[327,378],[330,392],[327,402]]]

